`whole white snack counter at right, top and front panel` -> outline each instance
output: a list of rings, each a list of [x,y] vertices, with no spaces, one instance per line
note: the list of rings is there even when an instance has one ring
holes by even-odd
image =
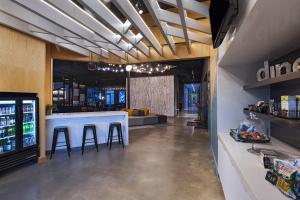
[[[300,155],[299,150],[273,137],[270,143],[255,146]],[[291,199],[265,180],[268,170],[263,167],[260,156],[247,152],[249,148],[251,144],[236,142],[229,133],[218,134],[218,172],[226,199]]]

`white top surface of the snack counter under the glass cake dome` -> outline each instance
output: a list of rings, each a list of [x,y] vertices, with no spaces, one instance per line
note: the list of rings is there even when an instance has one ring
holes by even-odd
[[[233,166],[240,175],[241,182],[250,194],[253,200],[288,200],[290,198],[282,194],[276,186],[265,180],[267,169],[265,169],[260,161],[260,156],[251,154],[247,149],[252,144],[236,142],[228,133],[219,133],[218,138],[225,151],[227,151]],[[293,155],[300,155],[297,149],[287,144],[271,138],[268,144],[255,144],[255,147],[276,149],[288,152]]]

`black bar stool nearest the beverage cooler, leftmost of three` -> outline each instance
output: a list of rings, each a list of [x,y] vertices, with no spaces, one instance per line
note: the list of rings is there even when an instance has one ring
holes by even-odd
[[[65,135],[65,141],[64,142],[58,142],[58,135],[59,133],[63,133]],[[57,144],[65,143],[65,145],[56,146]],[[60,126],[54,128],[53,133],[53,139],[52,139],[52,148],[51,148],[51,154],[50,159],[52,159],[52,155],[55,154],[56,147],[67,147],[68,156],[71,156],[71,146],[70,146],[70,138],[69,138],[69,130],[66,126]]]

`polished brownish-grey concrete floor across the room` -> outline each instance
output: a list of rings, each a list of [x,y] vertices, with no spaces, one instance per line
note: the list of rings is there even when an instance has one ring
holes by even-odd
[[[168,125],[130,131],[130,146],[101,146],[0,176],[3,200],[219,200],[206,130]]]

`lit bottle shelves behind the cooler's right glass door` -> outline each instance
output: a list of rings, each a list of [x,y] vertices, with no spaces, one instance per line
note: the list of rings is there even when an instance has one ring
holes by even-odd
[[[23,101],[23,147],[36,144],[35,101]]]

